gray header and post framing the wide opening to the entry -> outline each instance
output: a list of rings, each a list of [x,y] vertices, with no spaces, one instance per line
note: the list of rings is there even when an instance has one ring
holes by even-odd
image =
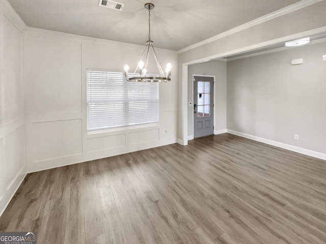
[[[322,1],[306,8],[298,9],[294,12],[269,19],[263,23],[251,26],[243,31],[222,37],[213,42],[206,43],[202,46],[195,47],[191,50],[178,54],[178,133],[179,139],[183,139],[183,124],[185,117],[182,111],[187,107],[187,87],[182,80],[183,64],[189,62],[202,62],[218,56],[227,56],[252,46],[264,46],[266,42],[271,40],[284,39],[287,40],[290,35],[300,34],[305,36],[303,32],[313,31],[324,32],[326,28],[326,1]],[[321,29],[318,29],[321,28]],[[185,135],[186,136],[186,135]]]

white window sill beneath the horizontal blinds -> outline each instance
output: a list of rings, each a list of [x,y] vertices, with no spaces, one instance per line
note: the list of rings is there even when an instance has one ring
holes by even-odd
[[[153,128],[153,127],[158,127],[158,122],[150,123],[150,124],[124,126],[124,127],[116,127],[116,128],[107,128],[107,129],[101,129],[101,130],[95,130],[95,131],[88,131],[87,139],[110,136],[112,134],[125,133],[126,131],[134,131],[134,130],[136,131],[136,130],[140,130],[140,129],[145,129],[145,128],[147,129],[147,128]]]

